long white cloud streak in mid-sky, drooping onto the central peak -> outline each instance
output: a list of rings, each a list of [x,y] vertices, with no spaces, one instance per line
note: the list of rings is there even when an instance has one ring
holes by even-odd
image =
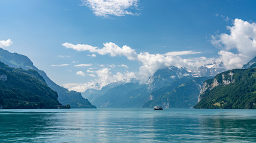
[[[142,65],[139,68],[138,78],[141,83],[146,82],[149,76],[152,76],[156,70],[162,69],[168,66],[176,66],[176,67],[191,67],[192,64],[187,60],[180,58],[177,55],[189,55],[189,54],[199,54],[201,52],[194,51],[176,51],[176,52],[168,52],[166,54],[149,54],[148,52],[141,52],[137,54],[134,49],[130,48],[127,45],[119,47],[115,43],[109,42],[104,43],[103,48],[98,48],[91,45],[73,45],[72,43],[64,43],[62,44],[66,48],[72,48],[77,51],[89,51],[89,52],[97,52],[100,55],[110,55],[110,57],[124,56],[127,57],[128,60],[136,60]],[[94,47],[94,48],[88,48]],[[104,67],[104,65],[100,65]],[[115,67],[115,65],[109,65],[110,67]],[[126,65],[121,65],[123,67],[128,68]],[[119,65],[120,67],[120,65]]]

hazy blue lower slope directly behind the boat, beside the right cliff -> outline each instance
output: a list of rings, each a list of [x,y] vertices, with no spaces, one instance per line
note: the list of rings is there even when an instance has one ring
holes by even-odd
[[[210,77],[183,77],[150,94],[150,100],[143,108],[161,105],[164,108],[192,108],[198,101],[204,80]]]

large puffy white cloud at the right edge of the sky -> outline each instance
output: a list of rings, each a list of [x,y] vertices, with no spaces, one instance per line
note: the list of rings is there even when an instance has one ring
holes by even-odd
[[[227,29],[230,35],[212,36],[212,44],[221,49],[217,60],[227,69],[241,68],[256,56],[256,23],[235,19]]]

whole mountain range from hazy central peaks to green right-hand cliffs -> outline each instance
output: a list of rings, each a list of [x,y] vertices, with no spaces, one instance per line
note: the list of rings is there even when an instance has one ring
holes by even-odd
[[[255,108],[254,67],[256,57],[244,70],[225,71],[222,62],[195,71],[171,66],[156,71],[146,84],[112,83],[101,90],[88,89],[83,95],[101,108]],[[211,88],[215,84],[218,87]]]

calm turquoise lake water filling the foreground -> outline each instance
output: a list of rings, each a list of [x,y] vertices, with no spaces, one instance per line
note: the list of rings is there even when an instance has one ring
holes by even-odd
[[[0,142],[256,142],[256,110],[0,110]]]

